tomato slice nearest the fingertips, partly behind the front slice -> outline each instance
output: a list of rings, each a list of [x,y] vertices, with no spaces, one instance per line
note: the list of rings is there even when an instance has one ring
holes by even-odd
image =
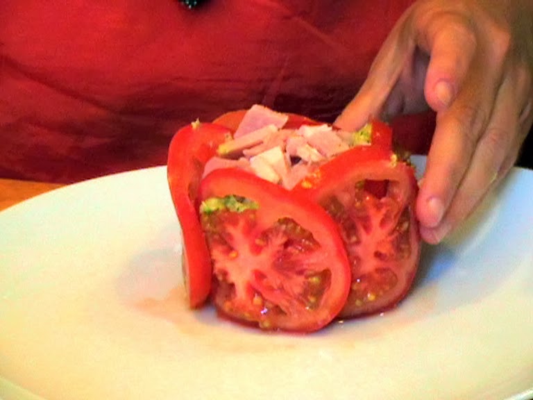
[[[383,158],[381,147],[366,149],[346,151],[293,190],[319,203],[340,228],[352,278],[339,317],[395,306],[407,294],[420,256],[413,168],[394,156]]]

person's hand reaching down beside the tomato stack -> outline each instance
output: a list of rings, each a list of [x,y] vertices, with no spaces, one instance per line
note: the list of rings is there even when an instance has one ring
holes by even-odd
[[[440,242],[514,165],[533,123],[532,38],[531,0],[417,1],[337,118],[353,129],[437,112],[416,202],[426,242]]]

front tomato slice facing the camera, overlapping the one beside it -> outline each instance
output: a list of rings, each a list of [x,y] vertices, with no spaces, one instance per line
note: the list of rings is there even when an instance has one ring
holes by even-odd
[[[350,267],[337,225],[316,203],[239,169],[218,169],[201,200],[237,196],[257,208],[202,214],[221,313],[265,329],[316,331],[346,303]]]

